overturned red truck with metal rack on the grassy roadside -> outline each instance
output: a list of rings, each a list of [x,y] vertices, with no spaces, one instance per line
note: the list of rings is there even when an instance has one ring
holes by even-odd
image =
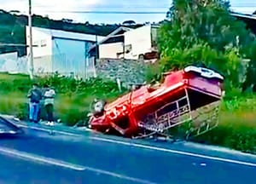
[[[165,73],[162,83],[143,85],[116,101],[97,101],[91,129],[126,137],[172,136],[172,128],[186,124],[186,138],[218,125],[224,77],[211,69],[187,66]]]

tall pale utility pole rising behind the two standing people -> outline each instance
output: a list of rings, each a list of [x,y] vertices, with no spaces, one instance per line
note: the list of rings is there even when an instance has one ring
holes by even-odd
[[[29,66],[30,78],[34,78],[34,63],[33,63],[33,49],[32,49],[32,0],[28,0],[28,27],[29,27]]]

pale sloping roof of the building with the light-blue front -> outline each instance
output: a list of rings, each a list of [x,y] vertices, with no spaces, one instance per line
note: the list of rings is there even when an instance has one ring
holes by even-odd
[[[92,35],[92,34],[67,32],[67,31],[61,31],[61,30],[46,29],[41,27],[32,27],[32,29],[37,30],[38,32],[44,32],[45,34],[48,34],[51,37],[60,37],[60,38],[67,38],[67,39],[96,42],[96,35]],[[97,36],[98,42],[101,41],[103,38],[105,37]]]

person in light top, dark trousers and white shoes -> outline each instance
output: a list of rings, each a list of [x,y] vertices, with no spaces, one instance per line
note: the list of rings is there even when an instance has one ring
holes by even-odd
[[[55,90],[49,88],[48,85],[44,85],[44,108],[46,112],[47,117],[47,124],[48,125],[54,125],[54,116],[53,116],[53,110],[54,110],[54,101],[55,101]]]

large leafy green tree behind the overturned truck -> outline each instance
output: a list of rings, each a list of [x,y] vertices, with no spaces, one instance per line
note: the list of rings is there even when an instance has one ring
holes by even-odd
[[[160,70],[190,64],[224,74],[227,90],[256,91],[256,38],[223,0],[173,0],[160,27]]]

